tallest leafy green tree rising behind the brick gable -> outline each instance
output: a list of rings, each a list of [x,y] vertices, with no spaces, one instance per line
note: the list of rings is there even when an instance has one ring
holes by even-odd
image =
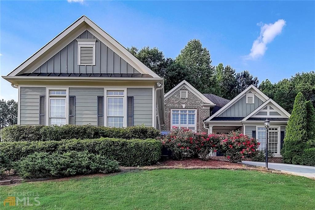
[[[190,40],[175,61],[192,75],[191,85],[202,93],[215,90],[215,68],[211,66],[210,53],[198,39]]]

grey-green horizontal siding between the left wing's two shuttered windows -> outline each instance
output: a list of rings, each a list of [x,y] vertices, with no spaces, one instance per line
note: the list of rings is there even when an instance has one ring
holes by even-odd
[[[75,125],[97,125],[97,96],[104,96],[104,88],[69,88],[75,99]]]

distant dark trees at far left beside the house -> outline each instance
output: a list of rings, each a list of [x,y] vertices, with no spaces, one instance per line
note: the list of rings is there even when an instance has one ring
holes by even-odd
[[[9,100],[0,101],[0,129],[17,124],[18,119],[18,103],[16,101]]]

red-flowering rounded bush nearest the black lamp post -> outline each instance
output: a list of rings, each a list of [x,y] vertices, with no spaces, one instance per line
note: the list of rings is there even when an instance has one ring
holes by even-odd
[[[232,132],[221,141],[220,151],[230,162],[236,163],[244,158],[254,157],[258,153],[259,145],[255,138]]]

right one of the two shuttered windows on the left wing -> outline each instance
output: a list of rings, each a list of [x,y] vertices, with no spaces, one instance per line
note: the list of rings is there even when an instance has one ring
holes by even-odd
[[[106,125],[108,127],[126,126],[126,102],[124,90],[106,91]]]

